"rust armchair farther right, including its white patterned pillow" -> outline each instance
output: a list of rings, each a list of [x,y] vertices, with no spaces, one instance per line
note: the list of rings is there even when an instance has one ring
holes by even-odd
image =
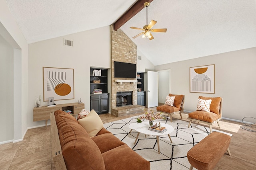
[[[199,96],[196,111],[188,113],[190,127],[192,121],[205,123],[209,125],[212,133],[212,124],[217,122],[220,128],[219,120],[222,118],[222,98],[221,97],[203,97]]]

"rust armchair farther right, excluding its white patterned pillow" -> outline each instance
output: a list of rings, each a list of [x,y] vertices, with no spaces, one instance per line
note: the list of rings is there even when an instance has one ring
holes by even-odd
[[[217,122],[220,128],[219,120],[222,118],[222,98],[221,97],[211,98],[211,97],[199,96],[199,99],[212,100],[212,102],[210,103],[210,112],[208,113],[207,111],[197,110],[192,113],[188,113],[188,119],[190,120],[188,127],[190,127],[192,121],[197,121],[200,123],[208,124],[210,128],[210,132],[212,133],[213,123]]]

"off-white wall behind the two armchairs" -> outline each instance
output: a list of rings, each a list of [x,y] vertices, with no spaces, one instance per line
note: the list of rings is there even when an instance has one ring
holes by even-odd
[[[255,117],[256,47],[156,66],[171,69],[171,93],[184,94],[184,110],[194,111],[198,96],[223,98],[222,117]],[[190,93],[190,67],[215,64],[215,94]]]

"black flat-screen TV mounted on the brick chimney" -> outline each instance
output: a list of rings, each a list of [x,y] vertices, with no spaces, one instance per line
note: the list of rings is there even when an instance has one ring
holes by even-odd
[[[114,61],[115,78],[137,78],[136,64]]]

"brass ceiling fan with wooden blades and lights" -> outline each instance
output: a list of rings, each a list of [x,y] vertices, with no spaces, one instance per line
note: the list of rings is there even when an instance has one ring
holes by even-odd
[[[148,24],[148,6],[150,5],[150,2],[145,2],[144,3],[144,7],[147,8],[147,25],[144,25],[143,28],[137,28],[137,27],[130,27],[132,29],[140,29],[142,30],[143,32],[142,33],[139,33],[138,35],[132,37],[132,38],[137,38],[138,36],[142,35],[142,38],[148,38],[149,40],[152,40],[154,39],[153,35],[151,34],[151,32],[162,32],[162,33],[165,33],[167,31],[166,28],[160,28],[160,29],[151,29],[155,24],[156,24],[156,21],[154,20],[151,20],[150,23]]]

